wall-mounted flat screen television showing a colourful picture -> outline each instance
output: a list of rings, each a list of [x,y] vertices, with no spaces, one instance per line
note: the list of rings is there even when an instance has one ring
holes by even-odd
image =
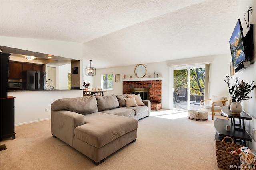
[[[242,31],[242,26],[240,19],[236,23],[236,27],[232,33],[232,36],[229,40],[232,62],[234,68],[236,68],[240,63],[248,60],[244,52],[244,36]]]

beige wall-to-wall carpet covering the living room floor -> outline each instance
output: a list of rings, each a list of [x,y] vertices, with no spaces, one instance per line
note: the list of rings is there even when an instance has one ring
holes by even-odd
[[[177,112],[177,111],[176,111]],[[52,137],[50,120],[15,127],[16,139],[1,141],[1,170],[218,170],[215,130],[186,112],[160,110],[139,120],[136,142],[95,166],[89,158]],[[215,118],[224,118],[219,114]]]

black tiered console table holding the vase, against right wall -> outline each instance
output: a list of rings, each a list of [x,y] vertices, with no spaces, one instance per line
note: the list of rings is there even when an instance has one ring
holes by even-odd
[[[230,131],[226,130],[228,120],[217,118],[214,121],[214,128],[217,132],[215,135],[215,140],[222,140],[225,136],[229,136],[234,139],[234,142],[241,142],[241,144],[244,146],[246,146],[246,141],[252,141],[252,138],[248,135],[244,128],[244,120],[252,120],[252,117],[243,111],[240,113],[240,115],[232,114],[228,106],[222,106],[221,111],[225,116],[231,118]],[[239,119],[239,122],[235,121],[235,118]]]

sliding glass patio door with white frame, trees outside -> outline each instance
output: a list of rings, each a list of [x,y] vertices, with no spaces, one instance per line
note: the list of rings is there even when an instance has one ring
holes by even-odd
[[[170,68],[171,99],[174,110],[199,109],[204,99],[205,66],[194,65]]]

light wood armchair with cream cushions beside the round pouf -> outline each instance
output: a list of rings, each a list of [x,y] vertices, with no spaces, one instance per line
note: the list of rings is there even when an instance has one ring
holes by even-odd
[[[204,101],[211,101],[211,104],[202,104]],[[211,99],[205,99],[200,101],[200,110],[205,110],[207,112],[212,112],[212,120],[214,118],[215,112],[221,112],[221,106],[226,105],[227,97],[225,96],[212,96]]]

